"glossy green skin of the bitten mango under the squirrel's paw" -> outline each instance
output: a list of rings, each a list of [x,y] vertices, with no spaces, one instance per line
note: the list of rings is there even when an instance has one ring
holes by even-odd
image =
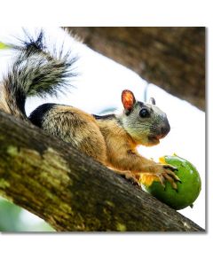
[[[182,183],[177,183],[176,191],[172,189],[169,182],[166,182],[165,188],[163,188],[156,177],[153,177],[152,184],[150,184],[150,180],[149,184],[142,184],[143,189],[176,210],[192,206],[201,192],[201,176],[197,169],[191,162],[178,156],[166,155],[160,158],[160,161],[177,167],[175,174]]]

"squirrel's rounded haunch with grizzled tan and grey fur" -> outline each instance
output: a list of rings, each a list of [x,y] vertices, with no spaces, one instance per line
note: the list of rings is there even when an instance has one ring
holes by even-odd
[[[91,114],[72,106],[54,106],[45,115],[42,128],[106,164],[105,139]]]

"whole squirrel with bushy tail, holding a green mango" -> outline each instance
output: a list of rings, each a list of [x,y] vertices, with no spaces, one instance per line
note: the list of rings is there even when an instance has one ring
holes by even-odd
[[[136,100],[130,90],[122,91],[122,113],[95,115],[73,106],[43,104],[29,116],[25,112],[28,96],[57,95],[67,87],[67,78],[75,76],[77,60],[70,51],[50,51],[45,46],[43,30],[36,38],[26,34],[11,69],[0,83],[0,110],[28,120],[49,134],[70,143],[76,149],[98,160],[107,168],[138,183],[140,173],[168,180],[177,189],[176,168],[148,160],[137,152],[138,145],[158,145],[170,131],[167,115],[150,103]]]

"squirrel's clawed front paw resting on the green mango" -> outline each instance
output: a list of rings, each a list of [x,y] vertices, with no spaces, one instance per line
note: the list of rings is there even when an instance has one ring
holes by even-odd
[[[180,179],[174,173],[177,168],[169,164],[157,164],[155,168],[155,176],[158,176],[162,186],[165,187],[166,180],[170,182],[173,189],[177,190],[177,182],[180,182]]]

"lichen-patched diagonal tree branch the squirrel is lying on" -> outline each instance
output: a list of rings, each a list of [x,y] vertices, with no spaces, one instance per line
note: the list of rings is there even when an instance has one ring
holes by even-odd
[[[0,195],[57,231],[204,231],[69,144],[3,112]]]

